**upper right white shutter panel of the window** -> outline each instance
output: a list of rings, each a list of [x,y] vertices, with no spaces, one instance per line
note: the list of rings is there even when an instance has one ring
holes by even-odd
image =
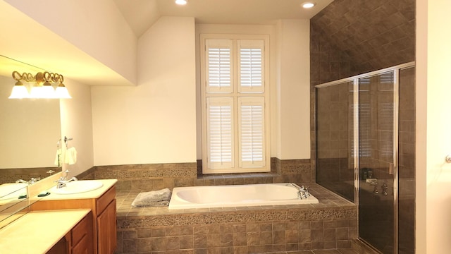
[[[238,40],[238,92],[264,91],[264,41]]]

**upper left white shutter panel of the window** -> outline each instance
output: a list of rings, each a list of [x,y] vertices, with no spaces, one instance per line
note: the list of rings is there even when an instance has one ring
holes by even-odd
[[[206,92],[232,92],[233,40],[206,40]]]

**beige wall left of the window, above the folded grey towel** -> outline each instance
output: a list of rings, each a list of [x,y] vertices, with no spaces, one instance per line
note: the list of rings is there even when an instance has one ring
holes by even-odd
[[[196,162],[194,18],[138,42],[137,87],[92,87],[94,164]]]

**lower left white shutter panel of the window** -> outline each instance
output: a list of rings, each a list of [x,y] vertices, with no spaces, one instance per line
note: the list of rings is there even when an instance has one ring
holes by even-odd
[[[233,167],[233,98],[207,98],[206,122],[209,168]]]

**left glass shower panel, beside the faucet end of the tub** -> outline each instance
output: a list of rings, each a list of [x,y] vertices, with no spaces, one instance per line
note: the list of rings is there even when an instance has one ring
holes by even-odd
[[[354,201],[354,83],[316,88],[316,183]]]

